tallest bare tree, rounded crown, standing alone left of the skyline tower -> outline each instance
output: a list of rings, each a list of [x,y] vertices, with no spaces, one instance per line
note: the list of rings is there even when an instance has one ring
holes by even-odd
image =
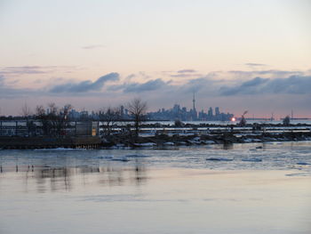
[[[135,136],[139,136],[140,124],[142,121],[146,120],[147,102],[141,101],[140,98],[135,98],[129,103],[127,103],[127,109],[130,115],[133,117],[135,125]]]

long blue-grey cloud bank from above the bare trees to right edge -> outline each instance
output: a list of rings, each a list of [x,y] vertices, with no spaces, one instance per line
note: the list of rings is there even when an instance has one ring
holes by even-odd
[[[283,72],[284,73],[284,72]],[[212,76],[188,78],[186,83],[177,84],[163,81],[161,78],[151,79],[144,83],[126,82],[122,85],[110,85],[108,91],[123,93],[175,93],[181,97],[185,93],[201,93],[207,96],[243,96],[259,94],[307,94],[311,93],[311,77],[291,76],[286,78],[254,77],[235,80],[214,79]]]

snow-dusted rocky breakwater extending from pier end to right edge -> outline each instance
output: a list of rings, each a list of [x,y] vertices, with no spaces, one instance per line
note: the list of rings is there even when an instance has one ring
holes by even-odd
[[[156,134],[140,134],[140,137],[132,135],[114,134],[103,137],[104,148],[146,148],[146,147],[178,147],[208,144],[233,144],[270,141],[311,141],[310,130],[286,130],[276,132],[263,131],[195,131],[187,133],[160,132]]]

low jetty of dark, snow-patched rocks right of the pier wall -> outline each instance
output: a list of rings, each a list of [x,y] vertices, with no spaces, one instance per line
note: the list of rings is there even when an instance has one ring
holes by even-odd
[[[222,133],[222,134],[159,134],[149,137],[134,138],[124,135],[111,135],[103,138],[102,149],[118,148],[165,148],[179,146],[229,145],[235,143],[267,143],[275,141],[311,141],[309,133]]]

